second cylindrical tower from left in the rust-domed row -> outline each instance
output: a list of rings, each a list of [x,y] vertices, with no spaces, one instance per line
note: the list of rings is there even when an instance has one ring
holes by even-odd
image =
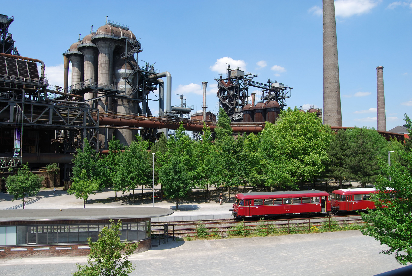
[[[91,42],[92,35],[86,35],[83,37],[82,43],[77,46],[77,49],[82,52],[84,57],[83,63],[83,80],[89,80],[91,83],[96,82],[95,76],[95,57],[96,51],[98,51],[96,44]],[[87,101],[91,98],[94,98],[94,93],[88,92],[84,94],[84,100]],[[91,104],[91,103],[90,103]]]

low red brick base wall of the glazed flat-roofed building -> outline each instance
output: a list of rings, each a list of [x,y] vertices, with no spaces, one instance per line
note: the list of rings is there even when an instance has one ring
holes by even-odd
[[[70,245],[28,245],[28,246],[0,246],[0,258],[19,258],[19,257],[59,257],[59,256],[87,256],[90,249],[80,249],[88,246],[87,244],[70,244]],[[70,247],[71,249],[56,249]],[[80,248],[79,248],[80,247]],[[22,251],[14,251],[12,249],[27,249]],[[37,248],[49,248],[49,250],[34,250]],[[141,253],[152,248],[152,239],[140,241],[135,253]],[[3,251],[4,250],[4,251]]]

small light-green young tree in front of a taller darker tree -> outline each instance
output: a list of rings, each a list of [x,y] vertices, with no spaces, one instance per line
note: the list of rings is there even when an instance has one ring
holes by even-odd
[[[73,183],[67,192],[74,194],[77,199],[83,199],[84,208],[84,203],[87,202],[89,195],[96,194],[96,191],[99,189],[99,184],[99,180],[97,179],[88,179],[86,170],[83,169],[80,175],[73,178]]]

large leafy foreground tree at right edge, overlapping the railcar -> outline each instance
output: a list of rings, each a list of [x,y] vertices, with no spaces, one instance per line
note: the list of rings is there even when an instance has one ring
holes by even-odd
[[[398,161],[391,162],[391,166],[384,159],[379,161],[381,173],[375,185],[378,193],[371,194],[376,210],[361,214],[368,222],[361,231],[389,247],[381,253],[394,254],[405,265],[412,262],[412,153],[401,152],[400,158],[407,166]]]

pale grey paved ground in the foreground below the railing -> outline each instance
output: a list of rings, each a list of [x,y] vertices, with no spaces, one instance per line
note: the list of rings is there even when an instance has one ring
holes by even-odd
[[[161,244],[132,255],[131,275],[333,275],[368,276],[401,267],[361,232],[341,231]],[[85,257],[0,260],[2,275],[60,276]],[[28,273],[30,271],[30,273]]]

